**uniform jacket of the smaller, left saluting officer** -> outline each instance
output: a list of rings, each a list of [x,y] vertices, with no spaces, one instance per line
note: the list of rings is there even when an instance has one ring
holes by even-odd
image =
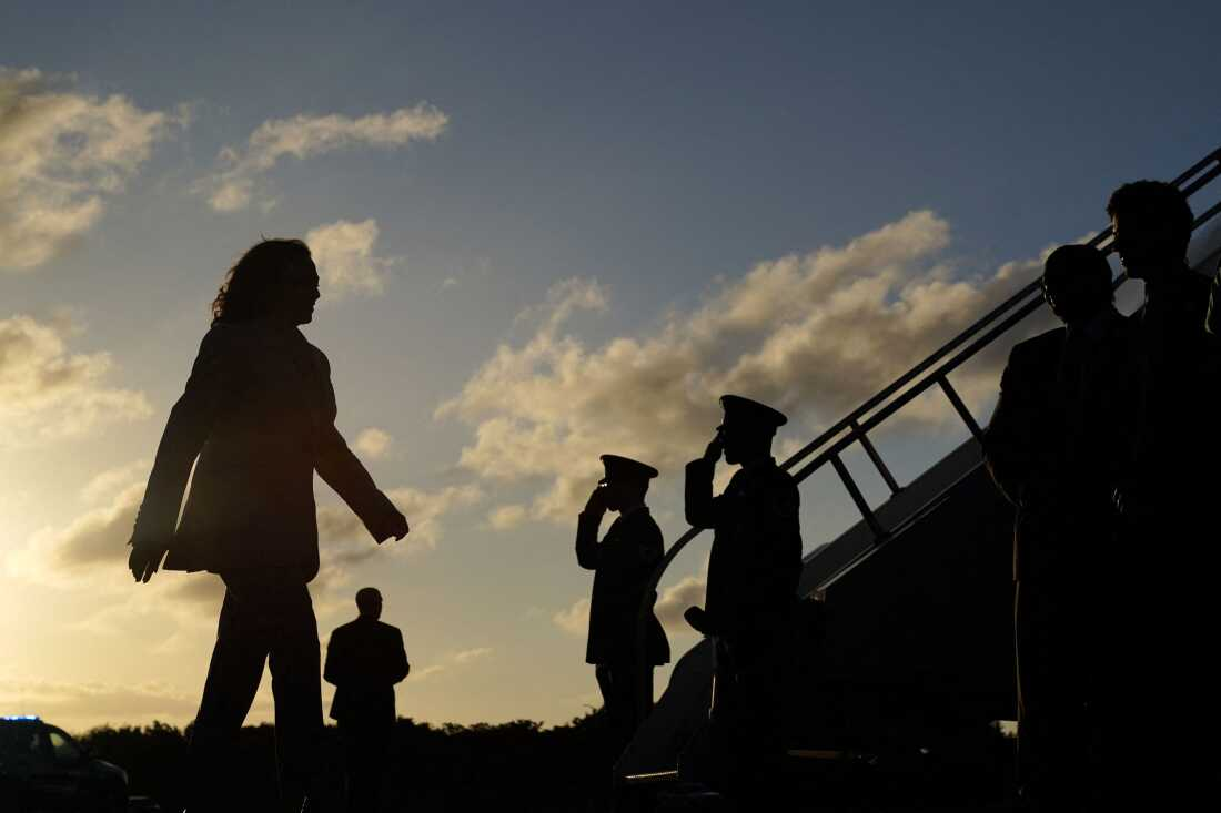
[[[602,542],[598,542],[597,519],[581,513],[576,524],[576,560],[586,570],[595,571],[586,663],[636,660],[636,614],[648,577],[663,555],[662,530],[648,507],[641,505],[615,519]],[[669,663],[665,631],[652,613],[647,636],[648,663]]]

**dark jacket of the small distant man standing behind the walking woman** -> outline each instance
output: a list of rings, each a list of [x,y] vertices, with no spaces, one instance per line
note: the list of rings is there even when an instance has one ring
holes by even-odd
[[[322,678],[333,684],[331,718],[341,723],[394,721],[394,684],[411,670],[397,626],[358,618],[331,634]]]

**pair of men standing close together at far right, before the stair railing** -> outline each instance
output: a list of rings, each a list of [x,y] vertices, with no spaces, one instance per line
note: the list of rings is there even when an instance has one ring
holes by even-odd
[[[1216,770],[1209,281],[1187,265],[1176,187],[1126,184],[1106,211],[1143,308],[1116,310],[1100,250],[1053,251],[1043,291],[1063,326],[1013,347],[983,443],[1016,507],[1018,780],[1042,811],[1166,809]]]

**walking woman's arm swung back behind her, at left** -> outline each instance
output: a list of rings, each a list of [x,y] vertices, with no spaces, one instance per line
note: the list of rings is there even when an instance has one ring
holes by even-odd
[[[136,581],[151,579],[170,549],[190,468],[208,439],[223,393],[233,380],[234,359],[226,348],[225,327],[208,331],[200,342],[186,389],[170,410],[144,490],[144,502],[128,542],[132,553],[127,566]]]

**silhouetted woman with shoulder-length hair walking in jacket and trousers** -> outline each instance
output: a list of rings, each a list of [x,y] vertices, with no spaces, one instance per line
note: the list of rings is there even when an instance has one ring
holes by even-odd
[[[220,761],[269,658],[284,809],[302,809],[316,774],[322,699],[306,587],[319,569],[314,471],[379,543],[408,532],[336,430],[330,364],[297,328],[313,320],[317,284],[300,240],[263,240],[230,270],[132,532],[137,581],[148,581],[168,552],[166,569],[208,570],[226,586],[190,742],[192,811],[216,806],[211,789],[230,786]]]

